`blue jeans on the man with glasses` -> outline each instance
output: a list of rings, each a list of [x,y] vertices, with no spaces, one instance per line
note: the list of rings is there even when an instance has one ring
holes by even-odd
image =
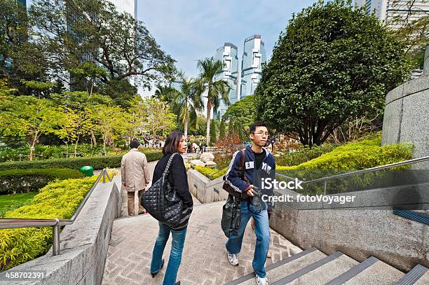
[[[257,242],[254,249],[253,256],[253,270],[258,277],[266,277],[265,272],[265,261],[268,249],[270,246],[270,225],[268,221],[268,213],[266,210],[257,211],[250,204],[250,210],[247,209],[247,201],[240,202],[241,207],[241,219],[240,226],[231,232],[229,235],[228,242],[226,242],[226,250],[231,254],[237,254],[241,251],[241,244],[243,243],[243,237],[247,222],[250,217],[253,216],[256,228],[254,233],[257,236]]]

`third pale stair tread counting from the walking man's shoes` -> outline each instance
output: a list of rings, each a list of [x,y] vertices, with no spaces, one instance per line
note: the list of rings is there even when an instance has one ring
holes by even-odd
[[[344,283],[345,285],[362,285],[362,284],[377,284],[377,285],[392,285],[395,284],[404,276],[403,272],[397,270],[381,260],[367,267],[367,269],[357,274]]]

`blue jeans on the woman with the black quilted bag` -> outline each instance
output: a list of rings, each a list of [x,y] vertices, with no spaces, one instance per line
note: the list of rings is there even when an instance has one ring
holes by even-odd
[[[161,270],[165,244],[167,244],[171,232],[172,244],[170,259],[168,260],[167,270],[165,271],[163,285],[173,285],[176,283],[177,271],[179,270],[180,261],[182,261],[182,251],[187,227],[182,230],[172,230],[163,223],[158,222],[158,224],[159,232],[156,238],[154,252],[152,253],[151,273],[157,273]]]

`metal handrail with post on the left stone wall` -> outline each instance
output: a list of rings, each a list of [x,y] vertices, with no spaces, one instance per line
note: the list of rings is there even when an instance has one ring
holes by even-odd
[[[102,183],[106,183],[106,176],[109,181],[112,179],[109,176],[109,173],[104,168],[100,175],[95,180],[95,183],[91,187],[91,189],[86,194],[85,198],[83,198],[79,207],[74,211],[73,216],[69,219],[63,218],[53,218],[53,219],[43,219],[43,218],[0,218],[0,229],[6,228],[32,228],[32,227],[53,227],[53,244],[52,244],[52,252],[53,256],[60,254],[60,226],[61,225],[71,225],[76,221],[77,216],[85,206],[88,201],[91,193],[102,179]]]

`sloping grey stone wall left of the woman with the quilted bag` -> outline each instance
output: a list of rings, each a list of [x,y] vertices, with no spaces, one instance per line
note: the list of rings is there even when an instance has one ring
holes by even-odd
[[[13,267],[13,271],[43,270],[41,281],[0,281],[0,284],[101,284],[113,221],[121,214],[121,177],[99,183],[72,225],[60,233],[61,253]],[[10,271],[10,270],[9,270]]]

